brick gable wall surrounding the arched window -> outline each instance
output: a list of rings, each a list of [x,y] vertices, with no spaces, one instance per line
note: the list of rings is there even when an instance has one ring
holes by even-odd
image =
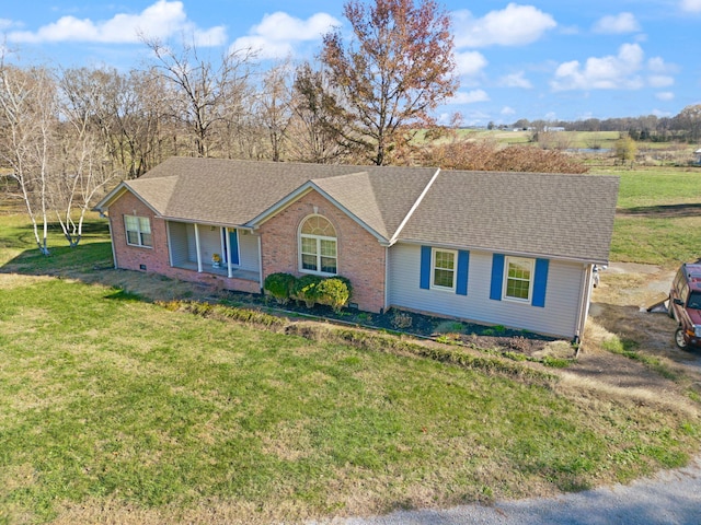
[[[317,211],[314,211],[317,207]],[[336,229],[338,275],[350,279],[353,298],[360,310],[384,307],[386,249],[378,240],[317,191],[310,191],[260,228],[263,279],[278,271],[299,271],[298,232],[311,214],[325,217]]]

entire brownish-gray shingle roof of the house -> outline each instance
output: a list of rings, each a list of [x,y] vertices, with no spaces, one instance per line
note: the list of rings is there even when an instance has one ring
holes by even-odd
[[[435,172],[174,158],[124,184],[164,218],[230,226],[252,226],[313,184],[390,240]],[[440,172],[398,240],[606,262],[618,185],[611,176]]]

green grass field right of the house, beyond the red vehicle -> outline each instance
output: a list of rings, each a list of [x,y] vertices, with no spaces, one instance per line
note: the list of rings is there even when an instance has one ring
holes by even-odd
[[[701,170],[614,174],[621,185],[611,260],[675,268],[701,257]]]

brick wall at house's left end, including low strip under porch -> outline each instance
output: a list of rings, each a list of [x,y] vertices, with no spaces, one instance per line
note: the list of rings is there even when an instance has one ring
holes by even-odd
[[[152,248],[130,246],[127,244],[126,230],[124,229],[125,214],[149,218],[153,241]],[[165,221],[153,217],[151,209],[129,191],[110,206],[110,224],[112,228],[112,242],[117,259],[117,268],[145,271],[140,269],[140,265],[145,265],[147,272],[160,273],[173,279],[200,282],[216,289],[238,290],[249,293],[261,292],[261,284],[255,281],[229,279],[226,276],[207,272],[199,273],[183,268],[172,268],[168,254],[168,230]]]

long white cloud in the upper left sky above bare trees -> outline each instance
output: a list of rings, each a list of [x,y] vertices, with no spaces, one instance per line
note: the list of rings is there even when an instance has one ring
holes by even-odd
[[[192,34],[202,46],[226,42],[223,26],[199,30],[187,20],[183,2],[158,0],[139,14],[115,14],[106,21],[61,16],[36,32],[15,31],[8,39],[16,43],[94,42],[102,44],[135,44],[139,35],[165,39],[179,33]]]

